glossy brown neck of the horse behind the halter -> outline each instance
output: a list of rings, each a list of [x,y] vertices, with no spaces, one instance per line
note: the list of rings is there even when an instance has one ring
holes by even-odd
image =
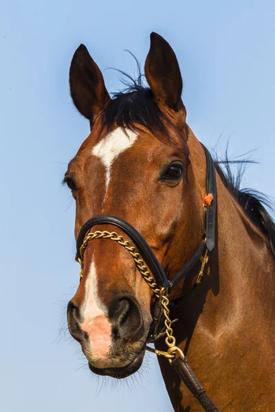
[[[191,166],[188,183],[194,192],[192,201],[195,199],[200,206],[206,190],[206,157],[191,130],[188,146]],[[196,213],[201,209],[196,209]],[[192,211],[195,219],[194,216]],[[183,251],[184,244],[180,248]],[[274,268],[275,259],[267,239],[254,227],[217,174],[216,245],[209,254],[201,284],[171,305],[170,319],[177,319],[173,324],[177,345],[188,356],[203,385],[208,385],[210,397],[221,402],[223,409],[229,410],[232,405],[236,411],[258,411],[254,407],[258,406],[260,393],[264,404],[261,410],[267,410],[265,399],[270,398],[274,387],[274,369],[270,363],[275,338]],[[193,279],[199,266],[194,269]],[[156,347],[166,350],[161,340]],[[196,400],[171,374],[166,360],[160,357],[159,365],[175,411],[187,411],[189,407],[197,410]],[[245,396],[248,388],[251,402],[248,409],[243,409],[243,398],[248,402]]]

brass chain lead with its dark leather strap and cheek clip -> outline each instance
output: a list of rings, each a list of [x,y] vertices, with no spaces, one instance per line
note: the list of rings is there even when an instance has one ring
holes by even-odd
[[[135,250],[134,246],[130,246],[128,240],[124,240],[122,236],[119,236],[116,232],[109,232],[109,231],[94,231],[90,232],[85,236],[83,240],[83,244],[80,247],[78,262],[80,264],[80,278],[83,277],[83,270],[84,270],[84,252],[88,246],[90,240],[94,239],[111,239],[114,242],[118,242],[121,246],[123,246],[129,253],[131,254],[135,266],[137,270],[142,275],[145,282],[150,286],[151,290],[153,291],[155,297],[159,299],[162,304],[163,312],[164,312],[164,325],[165,325],[165,343],[168,346],[167,352],[162,350],[153,349],[152,347],[146,346],[146,350],[148,352],[153,352],[157,356],[164,356],[164,358],[168,359],[170,365],[177,371],[179,377],[184,382],[186,387],[191,391],[192,395],[199,400],[199,403],[203,407],[204,411],[206,412],[219,412],[218,409],[214,406],[212,400],[208,398],[206,395],[206,389],[203,388],[201,383],[199,382],[197,376],[192,371],[186,356],[184,356],[184,352],[176,345],[175,336],[173,336],[173,329],[171,327],[172,321],[170,320],[170,310],[168,308],[169,305],[169,297],[168,297],[168,289],[165,288],[157,288],[157,284],[155,283],[155,279],[151,276],[151,273],[148,271],[148,268],[144,261],[142,260],[140,253]],[[203,273],[203,268],[206,260],[207,254],[202,258],[202,265],[201,271],[199,273],[199,278],[197,279],[197,283],[200,282],[201,276]],[[198,282],[199,281],[199,282]],[[176,358],[176,354],[177,356]]]

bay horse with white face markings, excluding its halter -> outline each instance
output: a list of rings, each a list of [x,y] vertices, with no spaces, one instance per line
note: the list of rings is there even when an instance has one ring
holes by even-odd
[[[186,124],[175,53],[155,33],[144,73],[149,87],[139,80],[110,98],[96,62],[84,45],[78,47],[69,84],[91,133],[69,162],[64,182],[76,201],[76,239],[92,216],[123,219],[146,240],[172,284],[201,245],[206,149]],[[240,190],[219,164],[213,170],[214,247],[170,291],[169,317],[177,321],[169,325],[219,411],[274,411],[275,225],[254,192]],[[93,222],[84,235],[96,240],[85,244],[68,327],[91,371],[120,379],[142,365],[162,292],[144,282],[125,231],[117,225],[113,235],[111,221]],[[108,236],[117,241],[103,241]],[[169,358],[162,335],[156,352]],[[175,411],[201,411],[165,356],[159,365]]]

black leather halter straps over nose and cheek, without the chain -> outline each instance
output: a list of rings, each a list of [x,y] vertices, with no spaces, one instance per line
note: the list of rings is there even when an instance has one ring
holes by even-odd
[[[203,146],[203,144],[201,144]],[[208,149],[203,146],[203,150],[206,153],[206,193],[212,194],[212,201],[209,205],[203,205],[203,237],[201,246],[197,252],[192,256],[189,262],[184,266],[184,268],[170,281],[168,280],[162,266],[159,264],[155,254],[153,253],[151,247],[148,245],[146,240],[142,235],[128,222],[122,218],[111,215],[98,215],[94,218],[90,218],[85,222],[83,227],[80,229],[78,235],[78,240],[76,241],[76,260],[80,258],[80,247],[83,244],[83,240],[86,236],[87,231],[94,227],[95,225],[113,225],[120,228],[127,236],[134,242],[137,249],[140,251],[140,255],[144,259],[144,262],[150,269],[153,277],[155,277],[155,282],[159,288],[168,289],[169,292],[179,284],[181,279],[190,271],[190,269],[203,258],[203,254],[208,251],[211,252],[215,245],[216,236],[216,214],[217,214],[217,186],[216,177],[214,169],[214,161],[210,155]],[[203,264],[204,267],[204,264]]]

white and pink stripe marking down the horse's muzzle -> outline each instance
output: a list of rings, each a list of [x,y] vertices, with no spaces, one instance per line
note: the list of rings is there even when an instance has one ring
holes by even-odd
[[[104,306],[98,298],[96,283],[96,265],[92,260],[85,283],[85,302],[82,309],[84,321],[80,326],[89,336],[91,354],[106,358],[111,346],[111,323],[104,314]]]

